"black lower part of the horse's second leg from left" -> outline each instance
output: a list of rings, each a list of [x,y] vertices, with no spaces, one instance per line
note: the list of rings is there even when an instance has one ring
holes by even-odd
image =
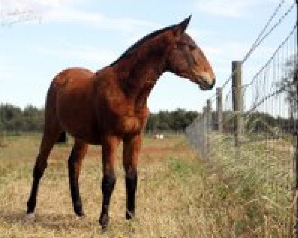
[[[70,190],[71,190],[71,197],[73,201],[73,208],[74,212],[78,216],[83,216],[83,206],[79,194],[79,186],[78,186],[78,177],[75,174],[75,156],[74,156],[74,148],[70,154],[69,160],[68,160],[68,169],[69,169],[69,181],[70,181]]]

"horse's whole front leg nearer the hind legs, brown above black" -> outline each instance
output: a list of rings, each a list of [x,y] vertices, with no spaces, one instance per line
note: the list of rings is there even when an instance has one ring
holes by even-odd
[[[119,139],[113,136],[105,138],[104,142],[102,143],[103,179],[101,190],[103,198],[99,223],[103,230],[106,230],[109,223],[110,198],[116,182],[114,165],[117,158],[118,144]]]

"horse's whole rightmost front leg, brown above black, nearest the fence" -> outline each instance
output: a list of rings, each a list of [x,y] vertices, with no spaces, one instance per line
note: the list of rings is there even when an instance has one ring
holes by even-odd
[[[126,185],[126,219],[135,215],[135,194],[137,189],[137,164],[141,148],[141,134],[123,140],[123,165]]]

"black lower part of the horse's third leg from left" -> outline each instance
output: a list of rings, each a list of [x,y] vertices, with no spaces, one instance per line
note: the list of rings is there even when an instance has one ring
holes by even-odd
[[[102,208],[99,223],[102,229],[106,229],[109,223],[110,198],[115,186],[116,178],[114,174],[105,174],[102,179],[101,190],[103,194]]]

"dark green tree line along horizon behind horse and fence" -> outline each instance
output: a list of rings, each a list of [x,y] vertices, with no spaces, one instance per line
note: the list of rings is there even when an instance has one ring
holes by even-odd
[[[224,118],[231,118],[232,112],[224,112]],[[187,111],[185,109],[176,109],[174,111],[159,111],[150,113],[146,131],[160,132],[173,131],[183,132],[185,128],[197,118],[200,113],[196,111]],[[216,125],[216,113],[212,112],[212,120]],[[0,105],[0,131],[13,132],[40,132],[44,125],[44,109],[39,109],[32,105],[21,109],[11,104]],[[273,117],[266,113],[254,112],[246,120],[246,127],[256,131],[266,131],[268,127],[278,127],[280,130],[293,131],[297,125],[294,119],[285,119],[281,117]],[[215,129],[215,128],[214,128]],[[224,130],[226,132],[233,130],[233,120],[225,121]]]

